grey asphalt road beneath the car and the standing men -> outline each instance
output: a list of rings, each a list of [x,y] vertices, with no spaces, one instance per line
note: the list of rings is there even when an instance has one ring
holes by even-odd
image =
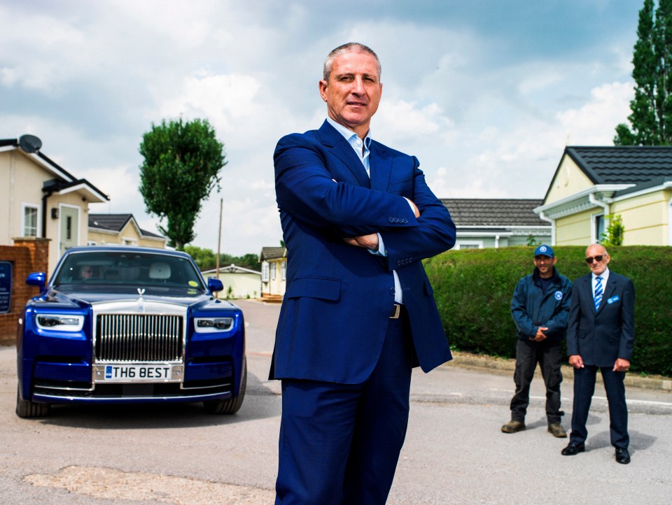
[[[248,392],[234,416],[199,404],[59,406],[48,418],[14,414],[15,349],[0,348],[0,504],[270,504],[279,383],[266,380],[279,306],[240,301]],[[533,381],[528,429],[503,434],[510,372],[467,369],[459,357],[414,372],[409,432],[388,504],[668,504],[672,394],[629,387],[629,465],[614,460],[598,385],[587,452],[563,457],[546,432]],[[571,383],[563,383],[568,428]]]

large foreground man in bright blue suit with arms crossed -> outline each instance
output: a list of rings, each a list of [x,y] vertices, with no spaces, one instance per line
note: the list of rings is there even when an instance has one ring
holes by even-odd
[[[372,140],[380,62],[328,55],[328,118],[281,138],[276,197],[286,292],[270,378],[282,380],[276,504],[384,504],[406,434],[412,367],[451,359],[421,259],[455,226],[415,157]]]

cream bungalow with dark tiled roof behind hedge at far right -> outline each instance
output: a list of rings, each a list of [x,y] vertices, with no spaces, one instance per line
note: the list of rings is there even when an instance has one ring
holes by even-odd
[[[567,147],[534,211],[559,246],[603,240],[612,216],[624,246],[672,246],[672,146]]]

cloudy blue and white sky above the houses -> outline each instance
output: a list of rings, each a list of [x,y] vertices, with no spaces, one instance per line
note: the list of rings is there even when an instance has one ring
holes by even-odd
[[[144,133],[207,119],[220,192],[191,245],[279,246],[273,150],[320,127],[325,56],[369,45],[371,135],[416,155],[439,198],[544,197],[566,145],[612,145],[633,98],[643,0],[0,0],[0,138],[41,152],[158,232],[139,186]]]

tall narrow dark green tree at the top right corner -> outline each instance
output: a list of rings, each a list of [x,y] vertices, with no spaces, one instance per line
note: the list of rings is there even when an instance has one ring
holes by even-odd
[[[616,127],[615,145],[672,144],[672,0],[644,0],[639,11],[630,102],[631,126]]]

